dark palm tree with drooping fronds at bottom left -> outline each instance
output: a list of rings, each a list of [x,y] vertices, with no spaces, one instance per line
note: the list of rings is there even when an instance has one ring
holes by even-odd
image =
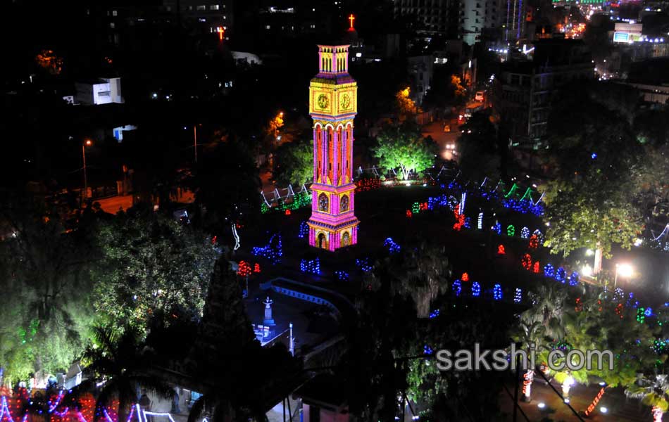
[[[137,403],[137,388],[155,392],[158,397],[173,397],[174,390],[168,383],[146,372],[151,366],[151,353],[142,350],[144,345],[135,329],[127,326],[119,333],[108,326],[96,326],[93,338],[94,346],[84,352],[83,361],[89,362],[88,369],[94,376],[82,383],[78,391],[102,384],[96,409],[108,408],[114,398],[118,399],[118,421],[123,422]]]

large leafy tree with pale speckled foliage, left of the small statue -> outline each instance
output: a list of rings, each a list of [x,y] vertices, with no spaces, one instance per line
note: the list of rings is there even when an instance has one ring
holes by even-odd
[[[191,226],[134,208],[99,225],[94,307],[113,326],[146,328],[156,314],[199,319],[213,264],[211,239]]]

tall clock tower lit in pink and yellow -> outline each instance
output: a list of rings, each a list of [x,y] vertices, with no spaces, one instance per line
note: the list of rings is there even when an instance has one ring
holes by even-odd
[[[313,118],[313,184],[309,244],[335,250],[358,243],[354,215],[353,120],[358,85],[349,46],[318,46],[319,71],[309,85]]]

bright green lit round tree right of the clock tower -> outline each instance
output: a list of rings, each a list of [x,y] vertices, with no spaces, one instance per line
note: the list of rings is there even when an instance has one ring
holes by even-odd
[[[406,180],[411,172],[422,172],[434,165],[437,146],[429,136],[423,137],[418,127],[405,123],[385,127],[377,136],[373,153],[381,167],[399,168]]]

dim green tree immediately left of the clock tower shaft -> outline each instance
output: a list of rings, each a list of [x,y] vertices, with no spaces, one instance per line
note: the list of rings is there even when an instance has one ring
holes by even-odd
[[[282,143],[274,159],[274,177],[281,186],[301,186],[313,179],[313,142]]]

